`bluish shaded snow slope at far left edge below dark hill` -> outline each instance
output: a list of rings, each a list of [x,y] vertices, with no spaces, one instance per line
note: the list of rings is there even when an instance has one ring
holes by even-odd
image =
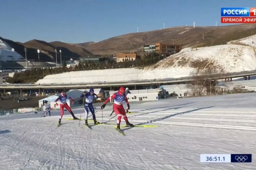
[[[15,50],[15,49],[14,49]],[[0,60],[1,61],[24,61],[25,59],[3,40],[0,39]]]

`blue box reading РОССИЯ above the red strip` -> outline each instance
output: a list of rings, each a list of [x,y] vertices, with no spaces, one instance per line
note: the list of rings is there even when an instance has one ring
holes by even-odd
[[[221,8],[221,17],[249,17],[249,16],[250,16],[250,8]]]

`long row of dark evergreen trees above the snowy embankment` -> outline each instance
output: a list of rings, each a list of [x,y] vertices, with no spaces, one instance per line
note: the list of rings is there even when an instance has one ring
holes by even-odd
[[[116,62],[113,60],[106,59],[104,62],[99,61],[85,61],[79,62],[75,67],[67,68],[66,62],[62,67],[57,68],[34,68],[26,70],[22,73],[16,72],[14,77],[9,77],[7,82],[9,83],[35,83],[39,79],[43,79],[47,75],[60,74],[70,71],[84,71],[84,70],[98,70],[98,69],[110,69],[110,68],[132,68],[132,67],[143,67],[146,65],[154,64],[164,56],[157,53],[151,53],[148,56],[138,57],[138,59],[132,61],[127,59],[124,62]]]

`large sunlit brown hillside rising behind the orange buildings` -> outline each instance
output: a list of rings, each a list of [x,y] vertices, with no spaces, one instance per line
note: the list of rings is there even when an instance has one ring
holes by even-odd
[[[219,27],[174,27],[156,31],[131,33],[110,38],[98,43],[82,43],[93,54],[116,54],[119,52],[137,53],[146,43],[163,42],[166,44],[183,44],[183,47],[193,45],[218,45],[230,40],[237,40],[251,34],[256,34],[256,24],[240,24]]]

